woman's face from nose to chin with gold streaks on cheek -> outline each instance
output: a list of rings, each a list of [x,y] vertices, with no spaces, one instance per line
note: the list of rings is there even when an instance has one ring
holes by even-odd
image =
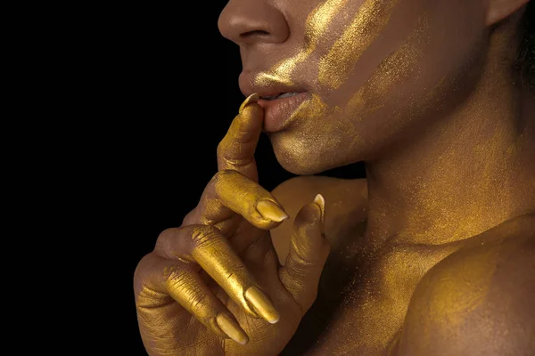
[[[245,95],[285,169],[316,174],[414,141],[480,72],[486,0],[230,0]],[[470,75],[469,75],[470,74]]]

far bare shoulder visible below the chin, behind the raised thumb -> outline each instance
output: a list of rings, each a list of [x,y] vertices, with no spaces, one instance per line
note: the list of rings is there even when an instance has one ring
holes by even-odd
[[[366,179],[299,176],[279,184],[272,191],[290,219],[271,231],[279,261],[284,263],[292,233],[293,218],[317,194],[325,198],[325,235],[336,236],[344,227],[366,218]]]

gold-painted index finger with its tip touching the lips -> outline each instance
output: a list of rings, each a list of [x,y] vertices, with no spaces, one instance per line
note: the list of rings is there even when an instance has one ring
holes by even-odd
[[[259,94],[251,94],[240,107],[225,137],[218,145],[218,170],[234,169],[254,182],[259,182],[254,151],[262,132],[264,109],[257,101]]]

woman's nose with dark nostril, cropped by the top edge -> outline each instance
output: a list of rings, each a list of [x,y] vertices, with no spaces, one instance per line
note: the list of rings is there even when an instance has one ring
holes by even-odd
[[[289,36],[284,14],[266,0],[230,0],[219,15],[218,28],[240,45],[282,43]]]

